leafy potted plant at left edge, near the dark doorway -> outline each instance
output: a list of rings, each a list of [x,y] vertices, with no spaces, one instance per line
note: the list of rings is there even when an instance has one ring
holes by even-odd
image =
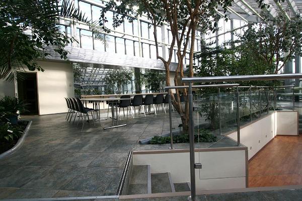
[[[28,111],[28,105],[18,97],[4,96],[0,99],[0,118],[2,122],[10,122],[12,125],[18,124],[17,112]]]

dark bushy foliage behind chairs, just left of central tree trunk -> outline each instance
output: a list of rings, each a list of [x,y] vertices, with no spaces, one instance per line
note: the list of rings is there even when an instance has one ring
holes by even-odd
[[[153,92],[160,92],[161,86],[164,87],[166,80],[166,73],[160,70],[148,70],[141,74],[141,82]],[[163,88],[162,88],[163,89]]]

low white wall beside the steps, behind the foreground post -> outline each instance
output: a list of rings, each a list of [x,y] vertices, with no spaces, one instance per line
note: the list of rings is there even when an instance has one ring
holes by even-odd
[[[195,170],[196,189],[245,188],[247,167],[244,149],[246,148],[230,151],[221,148],[222,151],[207,149],[209,151],[195,152],[195,162],[200,158],[202,164],[202,169]],[[171,172],[173,182],[190,181],[189,152],[133,152],[133,165],[150,165],[151,173]]]

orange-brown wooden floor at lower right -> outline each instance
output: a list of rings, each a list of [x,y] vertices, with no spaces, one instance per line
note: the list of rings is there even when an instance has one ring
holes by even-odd
[[[302,135],[276,136],[249,161],[249,187],[302,184]]]

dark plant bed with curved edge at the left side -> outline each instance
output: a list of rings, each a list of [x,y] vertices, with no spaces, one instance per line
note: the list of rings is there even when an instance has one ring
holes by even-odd
[[[0,154],[12,149],[24,134],[28,121],[18,121],[17,125],[2,123],[0,125]]]

